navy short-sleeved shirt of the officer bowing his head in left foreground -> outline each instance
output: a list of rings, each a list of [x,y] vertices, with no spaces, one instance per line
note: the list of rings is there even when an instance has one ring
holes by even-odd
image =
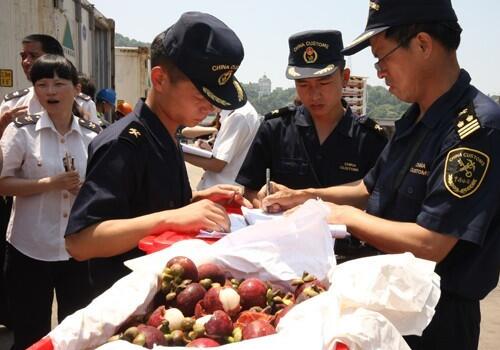
[[[73,205],[66,234],[98,222],[134,218],[190,202],[182,152],[158,117],[139,101],[133,113],[99,134],[89,146],[87,176]],[[129,271],[123,261],[138,249],[90,261],[97,294]]]

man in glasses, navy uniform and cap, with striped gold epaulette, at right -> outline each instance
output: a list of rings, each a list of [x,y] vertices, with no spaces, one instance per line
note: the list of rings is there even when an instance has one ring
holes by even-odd
[[[287,208],[319,196],[359,239],[437,262],[441,299],[422,336],[407,337],[412,349],[476,349],[479,300],[498,283],[500,107],[460,69],[460,33],[450,0],[370,2],[344,52],[371,46],[378,76],[413,105],[362,181],[264,199]]]

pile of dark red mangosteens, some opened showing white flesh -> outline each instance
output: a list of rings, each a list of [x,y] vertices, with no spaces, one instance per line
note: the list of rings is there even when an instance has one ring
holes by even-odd
[[[154,311],[125,322],[109,341],[215,347],[276,333],[280,319],[297,303],[326,286],[304,272],[289,288],[258,278],[236,280],[217,264],[196,267],[177,256],[163,270]]]

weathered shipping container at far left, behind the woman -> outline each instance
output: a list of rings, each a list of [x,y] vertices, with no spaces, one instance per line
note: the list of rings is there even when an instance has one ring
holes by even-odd
[[[106,85],[103,87],[114,85],[114,22],[87,0],[0,1],[0,14],[0,70],[7,75],[12,72],[12,86],[0,86],[0,97],[31,85],[22,71],[19,52],[22,39],[34,33],[52,35],[80,72],[93,79],[99,75],[100,84]],[[95,41],[102,40],[102,35],[96,39],[96,28],[107,39],[105,50],[99,52],[94,49]],[[103,56],[101,61],[106,64],[96,66],[96,55]],[[0,85],[8,85],[8,80],[1,79]]]

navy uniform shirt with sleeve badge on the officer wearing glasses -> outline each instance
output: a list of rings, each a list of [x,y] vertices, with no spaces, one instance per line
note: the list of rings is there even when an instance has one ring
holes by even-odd
[[[458,238],[437,264],[441,289],[482,299],[496,287],[500,267],[500,106],[471,86],[462,70],[415,124],[418,115],[413,105],[396,123],[364,178],[367,212]],[[418,152],[407,161],[419,134]],[[401,169],[404,177],[393,188]]]

